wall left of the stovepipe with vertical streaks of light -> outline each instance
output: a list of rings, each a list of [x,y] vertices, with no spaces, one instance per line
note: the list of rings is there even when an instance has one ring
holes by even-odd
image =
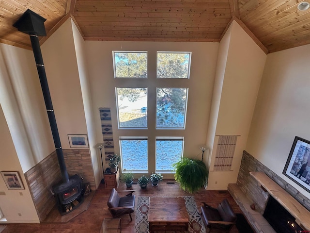
[[[24,173],[55,150],[31,50],[0,44],[0,102]]]

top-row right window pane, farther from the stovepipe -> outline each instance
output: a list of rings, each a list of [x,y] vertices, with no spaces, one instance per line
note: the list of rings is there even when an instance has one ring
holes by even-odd
[[[191,52],[157,52],[157,78],[189,79]]]

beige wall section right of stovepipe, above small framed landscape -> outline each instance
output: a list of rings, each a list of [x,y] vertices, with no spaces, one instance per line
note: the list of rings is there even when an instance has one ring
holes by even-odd
[[[70,149],[68,134],[87,134],[71,19],[41,50],[62,149]]]

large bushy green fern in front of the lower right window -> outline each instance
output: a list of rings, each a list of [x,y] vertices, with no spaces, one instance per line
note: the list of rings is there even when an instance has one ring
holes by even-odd
[[[173,164],[173,167],[174,179],[184,191],[196,192],[207,183],[208,170],[200,160],[183,158]]]

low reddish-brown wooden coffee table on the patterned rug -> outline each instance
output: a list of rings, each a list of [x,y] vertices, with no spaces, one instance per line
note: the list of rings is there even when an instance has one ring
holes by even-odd
[[[188,214],[181,197],[150,197],[150,233],[154,231],[187,231]]]

